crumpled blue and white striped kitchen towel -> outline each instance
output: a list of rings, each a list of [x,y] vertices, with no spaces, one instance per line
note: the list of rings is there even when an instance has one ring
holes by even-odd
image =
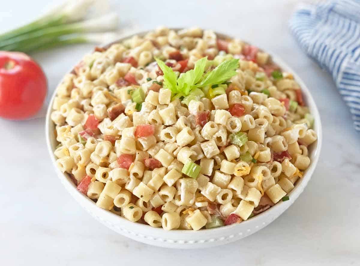
[[[360,0],[300,5],[290,28],[301,48],[332,74],[360,131]]]

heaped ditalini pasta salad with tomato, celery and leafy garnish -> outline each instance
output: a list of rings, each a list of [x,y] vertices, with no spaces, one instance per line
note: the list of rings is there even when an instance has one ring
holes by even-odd
[[[289,199],[317,140],[290,73],[200,28],[96,48],[53,109],[60,171],[97,206],[165,230],[230,225]]]

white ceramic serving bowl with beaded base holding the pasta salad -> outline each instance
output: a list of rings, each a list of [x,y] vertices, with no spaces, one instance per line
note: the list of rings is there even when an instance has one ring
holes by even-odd
[[[137,33],[138,35],[143,35],[146,32]],[[221,33],[216,33],[220,37],[229,37]],[[124,37],[118,41],[127,39],[130,36]],[[284,71],[293,73],[295,80],[301,86],[303,97],[307,103],[311,114],[315,118],[314,130],[318,134],[318,140],[311,145],[309,149],[311,164],[309,168],[305,171],[303,177],[297,181],[295,188],[289,193],[289,200],[275,204],[265,212],[258,214],[255,217],[250,218],[247,221],[242,221],[239,224],[233,224],[228,226],[222,226],[215,229],[205,229],[199,231],[193,230],[171,230],[165,231],[164,229],[154,228],[149,225],[144,225],[140,223],[130,222],[129,220],[118,216],[112,212],[106,211],[98,206],[95,203],[87,198],[85,195],[80,193],[76,186],[73,184],[72,180],[64,173],[62,173],[56,166],[56,158],[54,156],[54,150],[57,146],[57,141],[54,135],[54,123],[50,119],[51,111],[53,111],[52,105],[55,98],[56,91],[51,97],[49,104],[48,112],[46,114],[46,142],[48,144],[49,154],[51,160],[53,161],[55,171],[60,178],[61,182],[69,193],[76,199],[82,207],[84,207],[96,220],[100,221],[105,226],[116,231],[117,233],[127,236],[131,239],[134,239],[139,242],[143,242],[150,245],[156,245],[159,247],[167,248],[205,248],[205,247],[214,247],[217,245],[222,245],[226,243],[233,242],[235,240],[244,238],[248,235],[255,233],[256,231],[264,228],[266,225],[270,224],[277,217],[279,217],[294,201],[299,197],[299,195],[304,190],[307,182],[309,182],[312,173],[315,170],[316,164],[318,163],[322,132],[321,132],[321,122],[318,112],[318,108],[314,102],[314,99],[311,96],[310,90],[306,87],[305,83],[297,76],[294,71],[283,62],[279,57],[271,54],[274,63],[278,64]]]

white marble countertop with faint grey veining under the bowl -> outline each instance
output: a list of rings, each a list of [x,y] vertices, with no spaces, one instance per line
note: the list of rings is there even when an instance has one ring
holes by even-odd
[[[30,20],[49,1],[2,2],[0,31]],[[173,2],[123,0],[111,8],[120,15],[123,32],[129,25],[197,25],[280,55],[312,89],[322,117],[323,149],[307,188],[272,224],[238,242],[186,251],[152,247],[101,225],[67,193],[48,156],[44,118],[0,120],[0,265],[360,265],[360,133],[330,75],[289,33],[288,18],[298,1]],[[54,90],[91,47],[32,56]]]

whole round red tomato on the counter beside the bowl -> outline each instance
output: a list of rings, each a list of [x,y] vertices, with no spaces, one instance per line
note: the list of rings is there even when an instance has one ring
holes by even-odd
[[[0,51],[0,116],[22,120],[44,103],[47,81],[41,67],[28,55]]]

